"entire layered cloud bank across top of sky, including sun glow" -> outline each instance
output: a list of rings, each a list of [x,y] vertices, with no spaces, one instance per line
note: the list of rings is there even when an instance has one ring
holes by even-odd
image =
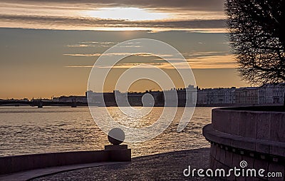
[[[223,4],[224,0],[2,0],[0,27],[219,32],[226,28]]]

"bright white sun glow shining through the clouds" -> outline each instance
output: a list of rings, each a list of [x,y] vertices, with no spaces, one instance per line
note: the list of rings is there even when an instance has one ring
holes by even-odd
[[[130,21],[170,18],[170,14],[140,8],[100,8],[93,11],[84,11],[83,15],[100,19],[124,19]]]

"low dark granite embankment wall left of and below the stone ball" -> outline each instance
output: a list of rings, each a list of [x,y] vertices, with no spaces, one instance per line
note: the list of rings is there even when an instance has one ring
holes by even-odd
[[[33,155],[0,157],[0,175],[44,167],[85,164],[91,162],[129,162],[131,151],[95,150],[82,152],[51,152]]]

